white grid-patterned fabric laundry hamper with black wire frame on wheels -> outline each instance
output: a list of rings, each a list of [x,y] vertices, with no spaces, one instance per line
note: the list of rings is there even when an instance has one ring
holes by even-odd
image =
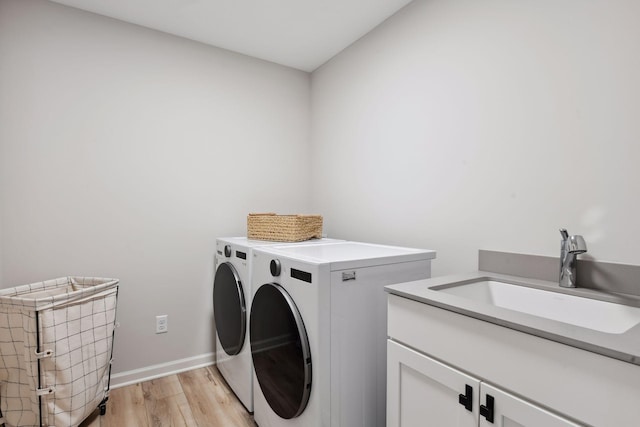
[[[0,289],[0,424],[77,426],[109,396],[116,279]]]

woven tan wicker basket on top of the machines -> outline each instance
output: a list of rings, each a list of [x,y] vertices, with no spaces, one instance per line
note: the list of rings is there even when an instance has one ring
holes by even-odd
[[[322,237],[321,215],[249,214],[247,237],[275,242],[302,242]]]

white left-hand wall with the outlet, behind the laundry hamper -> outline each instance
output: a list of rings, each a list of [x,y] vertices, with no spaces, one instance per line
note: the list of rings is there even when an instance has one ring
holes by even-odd
[[[35,0],[0,58],[0,286],[119,278],[116,374],[212,352],[215,238],[310,206],[309,75]]]

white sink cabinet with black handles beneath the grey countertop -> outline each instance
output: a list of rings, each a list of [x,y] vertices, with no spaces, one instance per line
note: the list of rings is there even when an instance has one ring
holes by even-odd
[[[640,426],[636,364],[397,295],[388,301],[388,427]],[[466,385],[470,412],[458,403]],[[487,394],[493,424],[479,415]]]

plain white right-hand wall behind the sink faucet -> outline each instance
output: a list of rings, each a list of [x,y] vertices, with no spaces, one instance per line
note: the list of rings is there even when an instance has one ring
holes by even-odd
[[[312,74],[314,207],[334,234],[640,263],[640,3],[416,0]]]

